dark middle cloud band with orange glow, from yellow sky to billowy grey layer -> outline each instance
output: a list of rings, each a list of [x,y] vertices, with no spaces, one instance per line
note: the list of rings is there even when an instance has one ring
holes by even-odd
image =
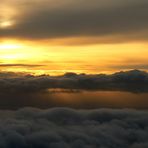
[[[0,73],[0,109],[148,108],[148,73],[138,70],[111,75],[66,73],[33,76]]]

